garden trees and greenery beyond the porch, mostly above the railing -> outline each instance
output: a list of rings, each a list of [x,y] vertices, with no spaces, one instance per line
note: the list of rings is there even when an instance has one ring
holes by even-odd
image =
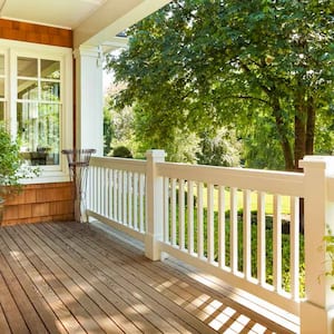
[[[299,170],[305,155],[333,154],[333,12],[332,0],[173,1],[131,27],[129,48],[106,59],[115,82],[105,109],[105,154],[126,146],[143,158],[159,148],[170,161],[285,170]],[[283,212],[289,214],[286,198]],[[242,220],[238,228],[242,240]],[[256,222],[252,249],[256,254]],[[288,234],[282,254],[288,289]],[[302,289],[303,266],[301,250]]]

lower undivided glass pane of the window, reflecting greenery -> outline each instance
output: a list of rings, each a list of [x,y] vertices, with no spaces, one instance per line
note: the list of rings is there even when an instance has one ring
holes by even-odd
[[[23,159],[59,165],[59,105],[18,102],[18,135]]]

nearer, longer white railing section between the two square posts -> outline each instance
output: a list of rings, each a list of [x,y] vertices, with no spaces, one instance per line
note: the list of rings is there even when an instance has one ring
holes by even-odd
[[[157,174],[164,179],[163,252],[298,314],[303,175],[167,163],[157,164]],[[265,209],[268,197],[271,215]],[[288,273],[283,272],[282,258],[283,197],[288,202],[285,215],[291,230],[285,245],[289,247]],[[254,206],[257,215],[252,217]],[[257,271],[252,273],[254,262]],[[283,287],[283,273],[291,281],[291,292]]]

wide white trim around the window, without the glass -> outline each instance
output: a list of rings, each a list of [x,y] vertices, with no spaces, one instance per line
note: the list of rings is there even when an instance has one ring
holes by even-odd
[[[69,180],[66,156],[61,150],[73,145],[73,61],[72,49],[0,39],[0,52],[6,55],[6,116],[12,134],[17,134],[17,57],[47,58],[61,63],[61,111],[59,166],[39,166],[39,177],[26,179],[23,184],[60,183]]]

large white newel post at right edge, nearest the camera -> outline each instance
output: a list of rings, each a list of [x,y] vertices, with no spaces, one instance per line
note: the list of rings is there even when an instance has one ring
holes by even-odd
[[[330,288],[333,277],[325,276],[330,262],[323,240],[327,226],[334,230],[334,199],[330,189],[334,157],[306,156],[299,166],[305,173],[306,289],[306,298],[301,303],[301,333],[334,333],[334,293]]]

